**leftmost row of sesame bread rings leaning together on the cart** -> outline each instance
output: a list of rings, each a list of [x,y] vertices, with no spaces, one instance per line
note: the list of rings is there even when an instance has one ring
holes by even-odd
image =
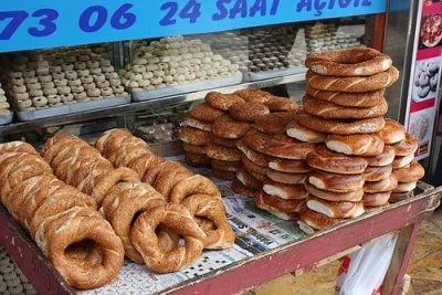
[[[124,249],[93,198],[65,185],[35,149],[0,145],[1,202],[66,282],[94,288],[112,282]]]

